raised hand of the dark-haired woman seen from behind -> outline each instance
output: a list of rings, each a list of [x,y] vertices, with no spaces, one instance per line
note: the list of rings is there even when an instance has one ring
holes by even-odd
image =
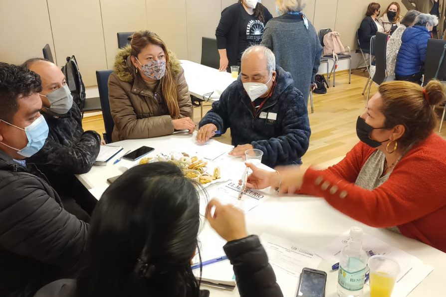
[[[214,214],[211,214],[213,209]],[[206,218],[211,227],[226,241],[248,236],[244,213],[230,204],[223,205],[218,200],[212,199],[206,207]]]

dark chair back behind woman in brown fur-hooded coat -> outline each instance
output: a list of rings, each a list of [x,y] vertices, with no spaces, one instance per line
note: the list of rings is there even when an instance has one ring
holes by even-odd
[[[107,144],[112,143],[112,133],[115,123],[110,112],[110,102],[108,101],[108,77],[113,70],[97,70],[96,79],[98,81],[99,99],[102,107],[102,118],[104,119],[105,133],[102,135]]]

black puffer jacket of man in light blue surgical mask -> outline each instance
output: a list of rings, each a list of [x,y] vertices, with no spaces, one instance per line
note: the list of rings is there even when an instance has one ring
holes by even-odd
[[[33,296],[45,284],[72,277],[87,228],[63,209],[44,176],[0,151],[1,297]]]

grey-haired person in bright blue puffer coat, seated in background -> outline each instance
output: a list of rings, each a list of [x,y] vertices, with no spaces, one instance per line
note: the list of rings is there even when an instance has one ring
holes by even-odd
[[[401,37],[401,47],[395,65],[395,78],[421,84],[424,73],[428,39],[432,29],[438,24],[436,15],[421,13],[418,22],[408,27]]]

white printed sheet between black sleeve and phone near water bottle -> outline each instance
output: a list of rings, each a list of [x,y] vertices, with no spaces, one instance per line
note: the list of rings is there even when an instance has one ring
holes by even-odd
[[[277,284],[284,297],[295,297],[302,269],[317,269],[321,258],[310,248],[295,244],[286,239],[262,234],[260,241],[268,255],[269,264],[276,275]]]

